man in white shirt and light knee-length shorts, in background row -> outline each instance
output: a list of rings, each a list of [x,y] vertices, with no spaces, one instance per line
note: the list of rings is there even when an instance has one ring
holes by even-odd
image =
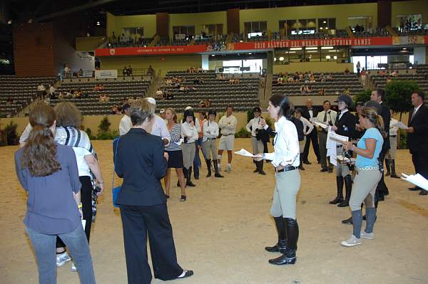
[[[236,125],[238,125],[238,120],[233,116],[233,107],[228,105],[226,108],[226,115],[220,118],[218,122],[218,127],[220,127],[221,137],[218,144],[218,171],[221,171],[221,155],[224,150],[228,151],[228,167],[226,167],[226,172],[232,170],[232,151],[233,144],[235,142],[235,132]]]

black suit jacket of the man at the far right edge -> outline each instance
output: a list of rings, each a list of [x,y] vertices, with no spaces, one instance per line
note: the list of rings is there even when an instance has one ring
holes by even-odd
[[[423,104],[419,107],[414,117],[413,110],[409,116],[409,127],[413,127],[414,132],[407,134],[407,146],[410,153],[428,151],[428,106]]]

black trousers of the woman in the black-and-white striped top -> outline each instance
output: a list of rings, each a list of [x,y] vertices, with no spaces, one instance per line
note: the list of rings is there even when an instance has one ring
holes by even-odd
[[[92,189],[93,187],[92,187],[91,177],[83,176],[83,177],[78,177],[78,179],[82,184],[82,187],[81,187],[82,213],[83,213],[83,220],[86,220],[85,234],[89,243],[89,237],[91,236],[91,226],[92,226]],[[65,248],[66,244],[63,243],[63,241],[61,241],[61,238],[57,237],[56,247]]]

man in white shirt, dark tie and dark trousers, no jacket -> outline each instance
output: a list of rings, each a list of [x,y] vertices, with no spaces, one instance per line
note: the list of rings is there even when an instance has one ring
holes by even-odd
[[[318,113],[317,120],[325,125],[335,125],[337,112],[330,110],[330,100],[322,102],[322,112]],[[317,127],[318,144],[320,147],[321,172],[332,172],[333,165],[327,159],[327,132],[328,127]]]

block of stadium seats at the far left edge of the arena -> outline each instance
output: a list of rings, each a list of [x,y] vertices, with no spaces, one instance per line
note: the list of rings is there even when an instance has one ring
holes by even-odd
[[[40,83],[47,90],[49,85],[55,83],[56,80],[56,77],[18,78],[11,75],[0,75],[0,117],[16,115],[22,107],[26,107],[36,98],[37,86]],[[14,100],[11,104],[6,103],[9,96]]]

